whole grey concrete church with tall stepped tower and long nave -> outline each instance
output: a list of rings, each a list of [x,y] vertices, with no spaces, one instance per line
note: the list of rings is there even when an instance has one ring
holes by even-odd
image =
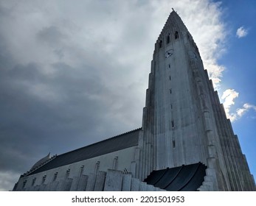
[[[173,10],[156,40],[142,127],[38,160],[13,191],[255,191],[237,135]]]

